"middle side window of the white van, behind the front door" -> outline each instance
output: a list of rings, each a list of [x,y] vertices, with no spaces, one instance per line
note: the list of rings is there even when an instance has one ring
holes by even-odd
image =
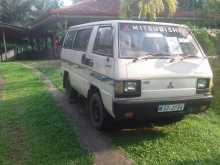
[[[92,29],[79,30],[77,32],[76,39],[73,44],[73,49],[79,51],[86,51],[91,32]]]

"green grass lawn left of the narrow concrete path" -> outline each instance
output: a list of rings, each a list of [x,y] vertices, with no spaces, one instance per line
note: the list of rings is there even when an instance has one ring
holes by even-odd
[[[0,102],[1,165],[93,163],[39,77],[13,62],[0,63],[0,75],[5,80]]]

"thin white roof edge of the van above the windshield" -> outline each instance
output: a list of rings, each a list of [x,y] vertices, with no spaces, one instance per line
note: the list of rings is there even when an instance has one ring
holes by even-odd
[[[174,23],[165,23],[165,22],[149,22],[149,21],[133,21],[133,20],[107,20],[107,21],[98,21],[98,22],[90,22],[90,23],[80,24],[80,25],[72,26],[69,29],[81,28],[81,27],[85,27],[85,26],[94,26],[94,25],[102,25],[102,24],[118,24],[118,23],[167,25],[167,26],[179,26],[179,27],[187,28],[186,25],[174,24]]]

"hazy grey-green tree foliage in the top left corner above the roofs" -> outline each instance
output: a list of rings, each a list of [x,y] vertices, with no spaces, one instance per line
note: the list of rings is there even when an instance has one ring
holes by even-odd
[[[0,21],[24,25],[60,6],[60,0],[0,0]]]

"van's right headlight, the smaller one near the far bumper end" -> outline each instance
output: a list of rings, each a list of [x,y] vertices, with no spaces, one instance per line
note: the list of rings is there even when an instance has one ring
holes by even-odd
[[[210,81],[209,78],[199,78],[197,80],[197,94],[208,93],[210,91]]]

